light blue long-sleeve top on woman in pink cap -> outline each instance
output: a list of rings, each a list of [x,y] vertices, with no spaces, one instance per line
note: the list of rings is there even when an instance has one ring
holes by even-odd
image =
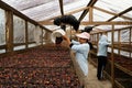
[[[88,75],[88,53],[89,53],[89,44],[88,43],[82,43],[80,44],[77,41],[72,41],[72,43],[74,44],[72,46],[72,50],[76,53],[76,58],[77,62],[84,73],[85,76]]]

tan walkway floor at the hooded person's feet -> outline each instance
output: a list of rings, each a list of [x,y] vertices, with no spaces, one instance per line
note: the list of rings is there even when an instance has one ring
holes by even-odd
[[[112,85],[109,80],[98,80],[97,79],[97,68],[89,63],[89,74],[88,78],[86,79],[86,87],[85,88],[112,88]]]

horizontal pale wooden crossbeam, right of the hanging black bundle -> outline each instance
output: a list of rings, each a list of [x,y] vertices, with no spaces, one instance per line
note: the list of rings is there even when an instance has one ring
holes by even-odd
[[[81,25],[132,25],[130,21],[114,21],[114,22],[81,22]]]

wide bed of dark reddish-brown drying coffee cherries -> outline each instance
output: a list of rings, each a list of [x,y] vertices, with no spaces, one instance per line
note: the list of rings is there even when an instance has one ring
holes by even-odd
[[[37,47],[0,58],[0,88],[80,88],[69,50]]]

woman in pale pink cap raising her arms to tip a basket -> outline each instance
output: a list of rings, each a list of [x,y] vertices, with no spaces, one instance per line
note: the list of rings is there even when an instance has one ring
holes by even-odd
[[[78,42],[70,40],[64,35],[64,40],[67,41],[69,44],[70,48],[75,51],[76,53],[76,58],[77,62],[84,73],[84,75],[87,77],[88,76],[88,53],[90,51],[90,45],[88,44],[88,41],[90,40],[90,34],[87,32],[82,32],[80,34],[76,34],[78,37]]]

